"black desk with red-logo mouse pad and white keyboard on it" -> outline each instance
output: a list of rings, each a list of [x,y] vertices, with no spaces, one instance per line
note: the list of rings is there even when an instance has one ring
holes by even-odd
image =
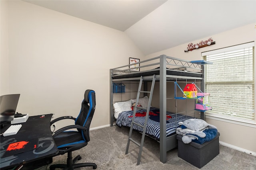
[[[8,169],[57,154],[58,149],[54,143],[50,129],[51,118],[52,114],[30,116],[25,123],[18,123],[22,124],[22,127],[16,135],[7,137],[1,136],[0,168]],[[1,134],[7,128],[8,127],[4,127],[1,129]],[[10,143],[33,139],[38,139],[37,149],[2,158]]]

